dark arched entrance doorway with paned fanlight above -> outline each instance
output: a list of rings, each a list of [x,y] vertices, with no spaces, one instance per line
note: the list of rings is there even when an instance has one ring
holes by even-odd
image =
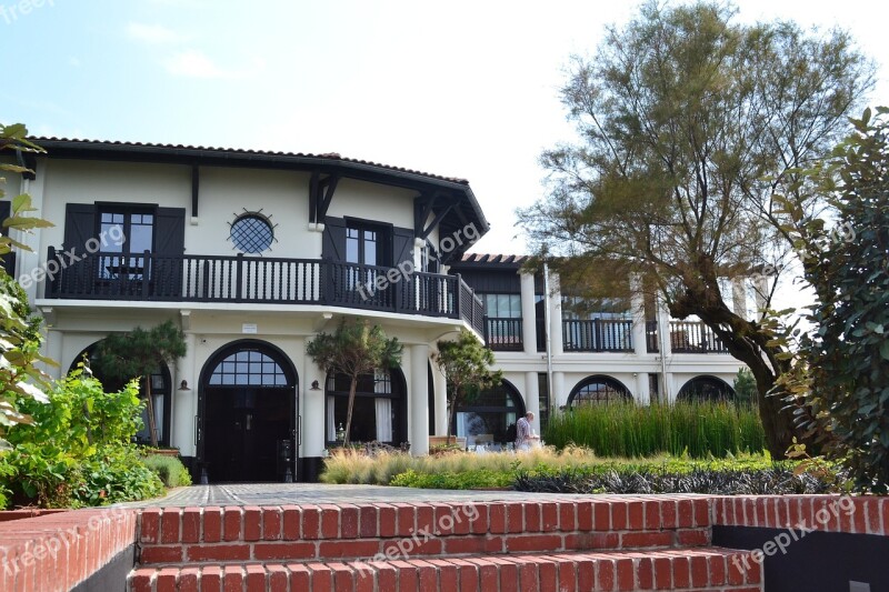
[[[290,359],[257,340],[229,343],[201,371],[198,458],[211,482],[283,481],[298,456],[298,377]]]

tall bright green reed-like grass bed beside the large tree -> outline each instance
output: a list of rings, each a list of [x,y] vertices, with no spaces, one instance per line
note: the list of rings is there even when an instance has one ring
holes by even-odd
[[[557,448],[576,444],[606,456],[702,459],[758,452],[766,445],[756,408],[708,402],[581,407],[550,418],[542,435]]]

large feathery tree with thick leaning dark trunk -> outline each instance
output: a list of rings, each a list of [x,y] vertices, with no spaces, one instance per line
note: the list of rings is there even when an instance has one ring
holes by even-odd
[[[847,131],[873,67],[842,31],[740,24],[735,13],[648,3],[608,28],[595,57],[576,58],[562,100],[579,142],[543,153],[551,191],[519,214],[575,293],[613,293],[636,273],[672,317],[712,329],[752,371],[781,458],[795,434],[776,388],[786,351],[765,312],[749,320],[726,305],[720,279],[787,261],[775,194],[820,207],[797,171]]]

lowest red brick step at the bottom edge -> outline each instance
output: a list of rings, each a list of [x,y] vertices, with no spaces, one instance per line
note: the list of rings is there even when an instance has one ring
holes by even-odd
[[[130,592],[427,590],[562,592],[688,590],[760,592],[761,570],[720,548],[596,553],[500,554],[391,561],[304,561],[142,566]]]

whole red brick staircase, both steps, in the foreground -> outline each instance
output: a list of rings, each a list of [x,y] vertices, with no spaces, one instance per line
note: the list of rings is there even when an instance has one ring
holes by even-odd
[[[705,498],[143,510],[133,592],[761,591]]]

